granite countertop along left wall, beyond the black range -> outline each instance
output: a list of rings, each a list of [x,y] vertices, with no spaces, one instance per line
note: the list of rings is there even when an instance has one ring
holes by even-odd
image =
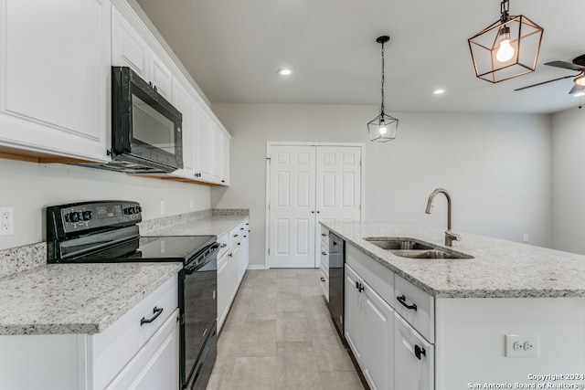
[[[195,221],[151,230],[146,236],[222,236],[249,216],[207,216]]]

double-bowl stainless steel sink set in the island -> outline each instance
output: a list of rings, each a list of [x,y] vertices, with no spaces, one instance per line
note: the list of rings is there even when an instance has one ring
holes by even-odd
[[[402,258],[473,258],[450,249],[433,247],[415,238],[371,237],[367,242]]]

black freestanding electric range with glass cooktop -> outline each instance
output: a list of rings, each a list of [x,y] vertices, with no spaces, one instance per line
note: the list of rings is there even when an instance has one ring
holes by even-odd
[[[180,384],[205,389],[217,352],[216,236],[140,236],[142,207],[129,201],[47,207],[49,263],[182,262]]]

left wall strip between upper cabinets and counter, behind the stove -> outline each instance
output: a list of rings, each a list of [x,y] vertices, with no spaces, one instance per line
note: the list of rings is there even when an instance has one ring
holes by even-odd
[[[0,236],[0,249],[43,241],[45,206],[102,199],[135,200],[143,206],[143,219],[148,220],[207,209],[209,194],[206,185],[0,159],[0,206],[15,207],[15,235]],[[160,214],[161,200],[165,200],[164,215]]]

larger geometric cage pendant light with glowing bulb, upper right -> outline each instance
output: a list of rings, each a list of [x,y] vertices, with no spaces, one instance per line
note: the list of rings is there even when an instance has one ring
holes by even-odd
[[[495,83],[537,69],[544,30],[526,16],[510,16],[509,6],[503,0],[500,19],[467,40],[479,79]]]

